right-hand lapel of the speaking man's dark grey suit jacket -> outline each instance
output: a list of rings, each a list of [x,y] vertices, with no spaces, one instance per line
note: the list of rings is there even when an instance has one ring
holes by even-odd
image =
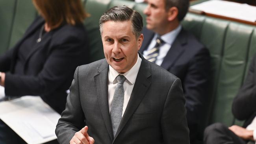
[[[115,138],[119,135],[119,133],[122,131],[125,124],[128,122],[132,114],[134,114],[134,111],[137,109],[139,104],[141,103],[141,100],[144,98],[148,87],[151,84],[151,81],[148,79],[151,76],[150,73],[150,65],[146,62],[146,59],[143,58],[143,56],[139,53],[142,61],[141,66],[139,68],[139,72],[134,84],[134,88],[132,90],[132,94],[130,97],[130,100],[128,102],[128,105],[126,107],[126,110],[124,112],[124,115],[122,117],[122,120],[120,122],[120,125],[117,129],[117,133],[115,135]],[[115,141],[114,138],[114,141]]]

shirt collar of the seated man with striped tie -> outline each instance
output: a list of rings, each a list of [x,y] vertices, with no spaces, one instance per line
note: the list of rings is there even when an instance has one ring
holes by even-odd
[[[169,33],[165,33],[164,35],[161,36],[161,39],[167,43],[172,45],[173,41],[177,37],[178,33],[180,33],[182,26],[179,25],[176,29],[170,31]],[[158,34],[155,34],[154,39],[156,39]]]

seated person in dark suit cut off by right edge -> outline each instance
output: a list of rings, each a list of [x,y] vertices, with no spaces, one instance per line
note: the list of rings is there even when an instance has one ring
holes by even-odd
[[[256,140],[256,55],[249,68],[247,79],[232,105],[235,118],[245,120],[243,127],[226,127],[216,123],[204,131],[204,144],[247,144]],[[255,142],[253,142],[255,143]]]

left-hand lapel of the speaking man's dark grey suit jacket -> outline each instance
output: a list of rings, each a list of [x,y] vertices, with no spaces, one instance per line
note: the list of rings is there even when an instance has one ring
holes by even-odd
[[[113,129],[111,126],[108,106],[108,69],[108,63],[104,61],[100,66],[98,66],[98,74],[94,76],[94,81],[100,111],[108,130],[109,137],[113,140]]]

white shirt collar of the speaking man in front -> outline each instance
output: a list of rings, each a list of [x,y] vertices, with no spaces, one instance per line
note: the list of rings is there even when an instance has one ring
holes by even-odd
[[[141,66],[141,58],[139,57],[139,54],[137,56],[137,61],[134,64],[134,66],[132,66],[132,68],[130,70],[128,70],[126,73],[124,74],[120,74],[119,72],[117,72],[114,68],[112,68],[109,65],[109,72],[108,72],[108,79],[110,83],[117,83],[117,80],[115,79],[118,75],[124,75],[124,77],[126,78],[126,80],[128,80],[128,82],[131,85],[134,85],[135,80],[137,78],[137,74],[139,72],[139,67]]]

